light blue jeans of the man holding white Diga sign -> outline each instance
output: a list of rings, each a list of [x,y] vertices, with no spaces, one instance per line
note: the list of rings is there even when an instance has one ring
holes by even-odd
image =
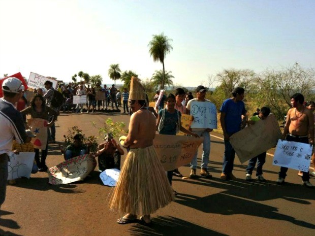
[[[198,130],[194,131],[194,133],[197,133],[200,137],[203,137],[202,142],[202,157],[201,157],[201,168],[207,169],[208,162],[209,162],[209,155],[210,155],[210,134],[208,131],[205,130]],[[191,162],[191,168],[196,169],[197,168],[197,155],[198,151],[196,152],[196,155],[193,157]]]

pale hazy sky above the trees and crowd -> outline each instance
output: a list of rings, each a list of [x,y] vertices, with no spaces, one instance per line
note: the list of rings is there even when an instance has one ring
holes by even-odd
[[[148,47],[160,33],[172,40],[165,70],[175,86],[207,86],[225,69],[315,68],[313,0],[0,0],[0,9],[0,77],[70,82],[83,71],[111,84],[118,63],[145,80],[162,70]]]

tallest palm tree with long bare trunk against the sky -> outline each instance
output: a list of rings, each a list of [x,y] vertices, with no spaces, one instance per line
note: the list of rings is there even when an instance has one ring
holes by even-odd
[[[153,39],[148,44],[150,56],[153,57],[153,61],[160,61],[163,64],[163,79],[161,83],[161,89],[164,89],[164,78],[165,78],[165,66],[164,58],[167,53],[169,53],[173,47],[171,45],[171,39],[168,39],[164,33],[160,35],[153,35]]]

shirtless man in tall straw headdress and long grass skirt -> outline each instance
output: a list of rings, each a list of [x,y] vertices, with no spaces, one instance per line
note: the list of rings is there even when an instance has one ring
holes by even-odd
[[[136,77],[132,77],[129,94],[133,115],[123,146],[130,151],[111,196],[110,210],[128,213],[117,220],[119,224],[150,225],[150,214],[171,203],[174,194],[153,147],[155,117],[146,109],[145,91]]]

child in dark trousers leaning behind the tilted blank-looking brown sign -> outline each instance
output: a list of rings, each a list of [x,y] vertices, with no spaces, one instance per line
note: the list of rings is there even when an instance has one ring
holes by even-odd
[[[248,125],[253,125],[259,120],[264,120],[269,116],[270,114],[270,109],[267,107],[262,107],[260,113],[256,116],[253,116],[250,118],[250,121],[247,121]],[[253,157],[249,160],[247,168],[246,168],[246,181],[251,181],[251,174],[253,173],[254,167],[257,163],[257,170],[256,170],[256,179],[258,181],[266,182],[265,178],[263,177],[263,165],[266,162],[266,152],[263,152],[259,154],[256,157]]]

